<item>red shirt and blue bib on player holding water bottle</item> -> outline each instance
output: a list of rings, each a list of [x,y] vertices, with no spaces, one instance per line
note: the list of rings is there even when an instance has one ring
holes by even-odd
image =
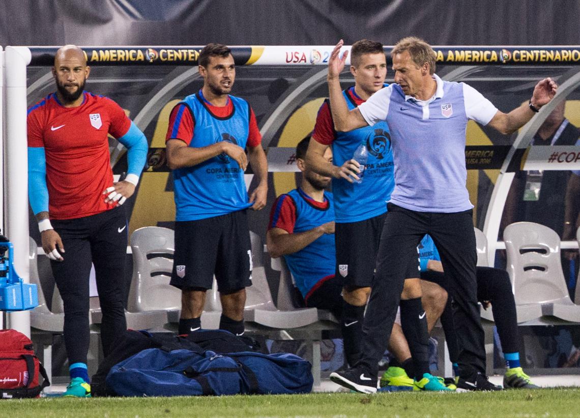
[[[343,91],[349,110],[364,103],[354,92],[354,87]],[[394,188],[393,152],[386,122],[374,126],[336,132],[328,100],[316,117],[312,137],[321,144],[332,146],[333,164],[343,165],[353,158],[361,143],[367,146],[368,160],[362,183],[349,183],[345,179],[332,179],[332,192],[336,203],[336,222],[358,222],[382,215]]]

